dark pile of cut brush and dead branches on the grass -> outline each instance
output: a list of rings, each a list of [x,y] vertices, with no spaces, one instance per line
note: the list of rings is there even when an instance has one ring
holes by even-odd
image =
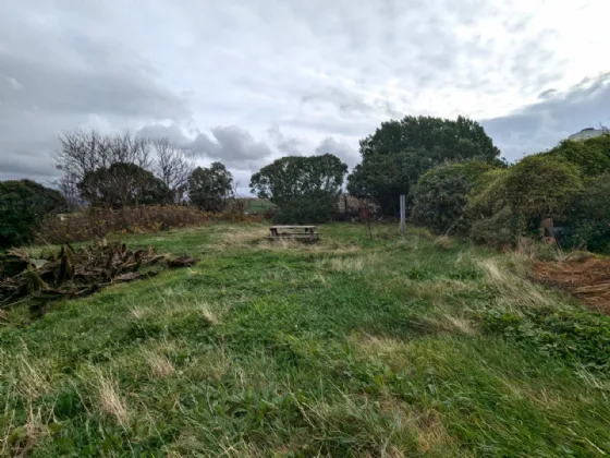
[[[127,250],[124,243],[106,239],[74,250],[61,246],[57,254],[33,257],[17,249],[0,257],[0,311],[27,303],[34,316],[63,299],[83,298],[101,288],[138,278],[147,278],[171,267],[188,267],[198,260],[170,258],[151,248]]]

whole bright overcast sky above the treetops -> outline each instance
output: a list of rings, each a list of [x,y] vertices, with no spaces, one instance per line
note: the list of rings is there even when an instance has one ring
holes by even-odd
[[[222,160],[333,153],[405,114],[479,120],[509,159],[610,124],[608,0],[1,0],[0,179],[63,130]]]

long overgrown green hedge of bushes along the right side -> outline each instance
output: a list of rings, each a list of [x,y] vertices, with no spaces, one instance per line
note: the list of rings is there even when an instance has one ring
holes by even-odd
[[[558,233],[563,246],[608,251],[609,138],[565,141],[476,177],[465,172],[468,162],[436,167],[418,181],[414,220],[495,246],[539,238],[544,221],[552,220],[563,227]]]

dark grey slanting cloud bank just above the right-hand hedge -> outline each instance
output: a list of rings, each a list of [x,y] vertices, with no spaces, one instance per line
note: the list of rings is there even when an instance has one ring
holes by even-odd
[[[610,123],[610,73],[546,93],[545,99],[511,114],[480,121],[507,158],[551,148],[581,129]]]

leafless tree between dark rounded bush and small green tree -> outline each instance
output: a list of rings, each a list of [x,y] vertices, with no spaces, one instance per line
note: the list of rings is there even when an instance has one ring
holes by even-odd
[[[187,159],[185,149],[172,145],[167,138],[155,140],[151,145],[154,173],[172,191],[174,200],[180,201],[195,166]]]

